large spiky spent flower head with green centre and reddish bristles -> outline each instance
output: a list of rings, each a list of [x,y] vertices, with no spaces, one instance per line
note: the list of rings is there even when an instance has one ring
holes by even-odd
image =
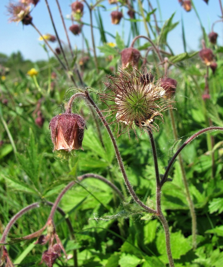
[[[163,120],[162,112],[171,107],[171,101],[164,101],[165,90],[160,86],[160,81],[145,79],[140,71],[120,70],[120,75],[108,76],[111,84],[107,85],[108,92],[102,94],[102,100],[113,101],[114,104],[107,104],[112,114],[116,114],[116,120],[110,123],[116,123],[118,127],[118,136],[135,127],[139,127],[141,132],[144,127],[151,130],[158,130],[158,125],[153,124],[155,117]],[[144,73],[146,69],[144,69]],[[120,127],[121,125],[121,127]]]

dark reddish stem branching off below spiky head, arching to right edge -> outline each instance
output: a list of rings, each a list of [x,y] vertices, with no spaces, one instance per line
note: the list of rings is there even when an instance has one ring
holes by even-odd
[[[161,185],[163,185],[166,180],[167,180],[167,177],[168,177],[168,173],[169,173],[169,170],[171,168],[171,166],[173,165],[176,157],[179,155],[180,151],[187,145],[189,144],[194,138],[196,138],[198,135],[200,134],[203,134],[205,132],[208,132],[208,131],[214,131],[214,130],[220,130],[220,131],[223,131],[223,127],[217,127],[217,126],[213,126],[213,127],[209,127],[209,128],[205,128],[203,130],[200,130],[199,132],[197,132],[196,134],[193,134],[190,138],[188,138],[184,144],[181,145],[181,147],[177,150],[177,152],[175,153],[175,155],[172,157],[171,161],[169,162],[168,166],[167,166],[167,169],[166,169],[166,172],[164,173],[163,175],[163,178],[161,180]]]

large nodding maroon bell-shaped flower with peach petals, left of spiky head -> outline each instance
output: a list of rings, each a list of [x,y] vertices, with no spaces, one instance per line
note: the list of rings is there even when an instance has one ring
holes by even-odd
[[[82,148],[85,121],[78,114],[64,113],[52,118],[49,123],[54,150],[77,150]]]

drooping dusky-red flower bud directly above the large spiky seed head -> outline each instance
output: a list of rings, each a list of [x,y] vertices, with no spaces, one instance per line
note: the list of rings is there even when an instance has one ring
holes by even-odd
[[[122,50],[122,68],[128,67],[129,64],[138,65],[140,52],[133,47],[128,47]]]

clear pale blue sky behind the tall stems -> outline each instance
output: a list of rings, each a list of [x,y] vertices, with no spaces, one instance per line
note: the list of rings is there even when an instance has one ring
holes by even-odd
[[[56,7],[56,3],[54,0],[48,0],[51,11],[54,15],[54,21],[57,26],[57,30],[60,35],[61,40],[66,40],[65,33],[62,27],[62,23],[60,20],[60,16]],[[59,0],[61,4],[61,9],[64,16],[70,14],[70,3],[73,1],[69,0]],[[88,3],[95,3],[95,0],[88,1]],[[25,59],[31,59],[33,61],[38,59],[46,59],[46,52],[41,47],[42,42],[38,40],[39,34],[33,29],[32,26],[22,25],[19,23],[8,23],[7,16],[7,8],[9,0],[0,0],[0,34],[1,34],[1,42],[0,42],[0,52],[10,55],[12,52],[21,51],[23,57]],[[135,7],[137,6],[137,0],[134,2]],[[144,1],[145,8],[147,1]],[[156,15],[158,20],[160,21],[159,25],[168,19],[174,12],[173,22],[179,21],[179,25],[168,35],[168,42],[171,48],[173,49],[175,54],[184,52],[183,51],[183,43],[182,43],[182,30],[181,30],[181,18],[184,21],[184,28],[186,34],[186,42],[187,42],[187,50],[190,51],[199,49],[199,39],[201,36],[201,27],[199,20],[194,12],[191,10],[190,12],[185,12],[185,10],[179,5],[178,0],[151,0],[151,4],[153,8],[157,7],[157,3],[160,5],[162,17],[159,17],[159,11],[157,9]],[[104,28],[111,32],[113,35],[116,34],[116,31],[119,32],[121,36],[123,36],[124,40],[127,41],[128,32],[129,32],[129,22],[127,20],[122,19],[120,25],[111,25],[111,16],[110,13],[112,9],[115,8],[114,5],[109,5],[108,1],[105,0],[101,3],[106,7],[101,8],[101,16],[104,22]],[[206,32],[210,32],[211,25],[214,21],[219,19],[220,17],[220,7],[219,1],[217,0],[209,0],[209,4],[207,5],[203,0],[194,0],[194,5],[199,13],[200,19],[202,21],[203,26],[205,27]],[[128,18],[127,9],[123,8],[124,17]],[[54,34],[53,28],[49,19],[49,15],[47,13],[46,5],[44,0],[40,0],[37,6],[32,11],[33,23],[39,28],[42,34],[50,33]],[[153,19],[153,17],[151,17]],[[89,23],[89,12],[84,7],[84,16],[83,21]],[[96,21],[94,18],[94,24],[96,25]],[[70,20],[66,20],[66,26],[69,28],[71,25]],[[215,24],[214,31],[219,34],[218,36],[218,44],[222,45],[223,31],[222,31],[222,22]],[[143,24],[141,24],[141,34],[145,34]],[[84,25],[83,32],[86,38],[89,40],[91,46],[91,33],[90,27]],[[100,38],[97,30],[94,30],[96,46],[100,46]],[[70,39],[72,46],[75,48],[86,48],[86,45],[83,42],[83,38],[80,36],[74,36],[70,33]],[[107,35],[107,41],[114,41],[111,37]],[[142,43],[143,44],[143,40]],[[53,44],[54,48],[57,46]]]

